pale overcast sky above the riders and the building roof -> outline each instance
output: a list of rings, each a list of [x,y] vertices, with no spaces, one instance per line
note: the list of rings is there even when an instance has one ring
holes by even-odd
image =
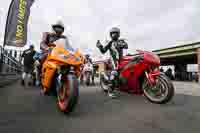
[[[0,0],[3,35],[10,0]],[[39,47],[41,33],[62,19],[75,47],[99,54],[96,40],[105,40],[111,26],[121,28],[130,51],[155,50],[200,40],[199,0],[36,0],[28,37]],[[108,38],[108,37],[107,37]]]

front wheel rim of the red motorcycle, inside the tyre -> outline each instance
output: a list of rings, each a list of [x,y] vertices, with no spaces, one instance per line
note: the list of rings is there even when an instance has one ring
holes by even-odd
[[[163,101],[169,91],[167,84],[160,78],[156,79],[155,85],[150,85],[148,81],[143,86],[145,95],[152,101]]]

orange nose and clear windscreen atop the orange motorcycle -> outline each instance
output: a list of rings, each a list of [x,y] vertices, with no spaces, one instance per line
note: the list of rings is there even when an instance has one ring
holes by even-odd
[[[55,41],[54,44],[56,47],[51,54],[54,59],[56,58],[56,60],[70,65],[82,64],[80,52],[72,48],[68,39],[59,39]]]

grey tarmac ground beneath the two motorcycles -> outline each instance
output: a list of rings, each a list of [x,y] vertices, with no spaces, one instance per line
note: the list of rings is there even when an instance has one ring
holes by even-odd
[[[16,82],[0,88],[0,133],[200,133],[200,85],[174,85],[166,105],[125,93],[110,99],[99,86],[82,86],[77,108],[64,115],[52,96]]]

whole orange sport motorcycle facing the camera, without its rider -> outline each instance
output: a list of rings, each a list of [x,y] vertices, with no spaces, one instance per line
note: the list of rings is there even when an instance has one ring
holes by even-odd
[[[50,46],[52,51],[42,65],[42,90],[44,94],[55,94],[58,108],[70,113],[79,97],[78,78],[83,56],[79,50],[73,50],[67,39],[59,39]]]

